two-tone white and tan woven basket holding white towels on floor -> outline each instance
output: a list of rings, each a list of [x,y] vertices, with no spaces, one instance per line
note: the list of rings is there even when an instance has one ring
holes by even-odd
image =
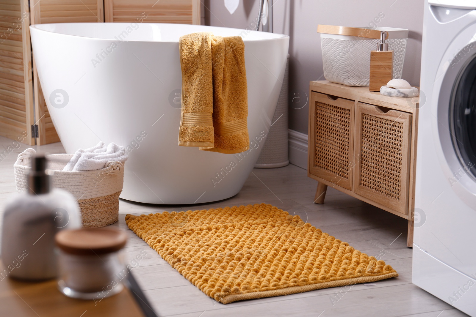
[[[34,149],[26,149],[18,155],[14,164],[18,192],[27,191],[27,174],[31,168],[30,157],[34,154],[36,154]],[[67,168],[69,170],[64,170],[67,165],[74,162],[75,156],[78,157],[78,152],[47,155],[49,169],[54,171],[53,187],[70,192],[78,200],[83,227],[104,227],[118,221],[119,194],[122,191],[124,163],[127,155],[119,156],[119,161],[104,163],[96,160],[97,164],[102,165],[100,169],[77,171],[75,167],[78,166],[80,160],[76,160],[75,165]]]

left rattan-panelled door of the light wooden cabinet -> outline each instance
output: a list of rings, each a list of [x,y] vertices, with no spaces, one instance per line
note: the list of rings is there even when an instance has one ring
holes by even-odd
[[[308,172],[352,190],[355,101],[317,92],[310,100]]]

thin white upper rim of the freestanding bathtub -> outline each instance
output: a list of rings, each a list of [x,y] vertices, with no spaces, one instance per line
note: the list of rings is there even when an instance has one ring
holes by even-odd
[[[32,24],[30,25],[30,31],[31,29],[35,29],[35,30],[38,30],[40,32],[45,32],[45,33],[53,33],[53,34],[58,34],[58,35],[63,35],[63,36],[68,36],[68,37],[75,37],[75,38],[88,38],[88,39],[91,39],[91,40],[105,40],[105,41],[111,41],[111,40],[115,40],[115,38],[93,38],[93,37],[88,37],[88,36],[82,36],[82,35],[73,35],[73,34],[67,34],[67,33],[60,33],[60,32],[54,32],[54,31],[50,31],[50,30],[45,30],[45,29],[42,29],[40,28],[40,26],[44,25],[44,26],[47,26],[47,25],[57,25],[57,24],[78,24],[78,25],[86,25],[86,24],[115,24],[115,25],[130,25],[130,23],[132,22],[64,22],[64,23],[38,23],[38,24]],[[150,23],[150,22],[142,22],[140,24],[163,24],[163,25],[171,25],[171,26],[174,26],[174,25],[184,25],[184,26],[194,26],[195,24],[181,24],[181,23]],[[239,30],[239,31],[247,31],[247,29],[237,29],[237,28],[228,28],[228,27],[217,27],[217,26],[210,26],[210,25],[198,25],[198,26],[201,26],[201,27],[210,27],[210,28],[222,28],[222,29],[236,29],[236,30]],[[268,33],[268,32],[262,32],[262,31],[256,31],[256,30],[249,30],[250,32],[258,32],[260,34],[262,33]],[[193,33],[193,32],[192,32]],[[249,34],[249,33],[248,33]],[[274,38],[258,38],[258,39],[246,39],[246,38],[243,38],[243,42],[247,43],[247,42],[266,42],[266,41],[273,41],[273,40],[281,40],[281,39],[285,39],[285,38],[289,38],[289,35],[286,35],[286,34],[281,34],[281,33],[269,33],[269,34],[273,34],[273,35],[278,35],[278,37],[274,37]],[[121,40],[121,42],[146,42],[146,43],[178,43],[178,40],[176,41],[153,41],[153,40],[127,40],[127,39],[123,39]]]

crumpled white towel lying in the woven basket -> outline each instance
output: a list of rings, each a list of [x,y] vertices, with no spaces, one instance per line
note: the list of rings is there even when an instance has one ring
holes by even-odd
[[[104,142],[89,149],[79,149],[71,157],[63,171],[93,171],[103,169],[110,161],[125,162],[128,159],[126,149],[114,143],[107,146]]]

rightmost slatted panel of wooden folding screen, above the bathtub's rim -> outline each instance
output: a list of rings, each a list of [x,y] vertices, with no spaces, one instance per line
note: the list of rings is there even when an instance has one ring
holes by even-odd
[[[200,0],[104,0],[106,22],[200,24]]]

